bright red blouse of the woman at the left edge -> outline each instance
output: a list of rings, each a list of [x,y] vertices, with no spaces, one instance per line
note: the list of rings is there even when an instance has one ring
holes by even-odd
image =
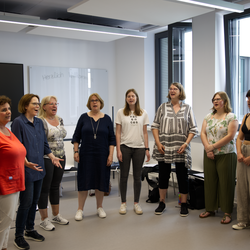
[[[25,189],[26,149],[10,130],[9,132],[10,136],[0,132],[0,195]]]

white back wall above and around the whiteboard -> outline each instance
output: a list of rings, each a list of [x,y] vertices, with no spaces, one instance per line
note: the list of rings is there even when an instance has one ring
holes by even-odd
[[[115,49],[113,42],[90,42],[0,32],[0,44],[1,62],[22,63],[24,65],[25,93],[28,92],[28,66],[37,65],[107,69],[109,95],[115,95]],[[1,82],[1,84],[4,83]],[[111,98],[109,100],[110,107],[115,104],[115,99]]]

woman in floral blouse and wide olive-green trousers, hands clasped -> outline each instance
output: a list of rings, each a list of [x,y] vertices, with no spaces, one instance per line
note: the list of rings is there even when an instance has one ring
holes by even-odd
[[[212,113],[202,124],[201,141],[204,145],[204,188],[205,209],[200,218],[215,215],[220,207],[224,212],[221,224],[232,221],[235,173],[237,156],[234,137],[238,129],[238,120],[231,113],[228,95],[217,92],[212,98]]]

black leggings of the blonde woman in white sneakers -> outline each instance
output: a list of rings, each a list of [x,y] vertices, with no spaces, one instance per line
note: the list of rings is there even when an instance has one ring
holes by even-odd
[[[44,167],[46,175],[43,178],[43,185],[41,195],[38,201],[39,209],[46,209],[48,206],[48,197],[51,205],[59,204],[59,186],[62,181],[62,176],[65,168],[65,156],[62,157],[64,161],[60,161],[62,168],[53,165],[50,159],[44,158]]]

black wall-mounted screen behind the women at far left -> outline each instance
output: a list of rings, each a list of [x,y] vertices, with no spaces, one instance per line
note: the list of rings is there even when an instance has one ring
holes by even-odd
[[[23,64],[0,63],[1,88],[0,95],[6,95],[11,99],[11,120],[17,116],[18,102],[24,95]]]

